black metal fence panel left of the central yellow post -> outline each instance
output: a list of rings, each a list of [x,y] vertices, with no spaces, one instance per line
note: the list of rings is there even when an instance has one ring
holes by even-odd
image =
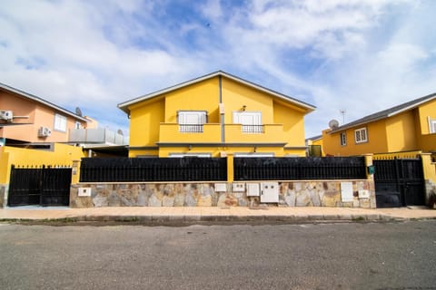
[[[84,158],[80,182],[224,181],[225,158]]]

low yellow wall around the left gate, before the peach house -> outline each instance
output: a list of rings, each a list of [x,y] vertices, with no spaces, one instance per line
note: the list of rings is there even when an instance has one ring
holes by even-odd
[[[0,184],[9,183],[11,166],[72,166],[85,157],[80,147],[54,144],[53,151],[0,147]]]

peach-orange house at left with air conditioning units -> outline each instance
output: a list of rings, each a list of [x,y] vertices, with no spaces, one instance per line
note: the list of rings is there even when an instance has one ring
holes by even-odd
[[[33,94],[0,83],[0,143],[38,147],[67,142],[70,129],[87,128],[80,114],[68,111]]]

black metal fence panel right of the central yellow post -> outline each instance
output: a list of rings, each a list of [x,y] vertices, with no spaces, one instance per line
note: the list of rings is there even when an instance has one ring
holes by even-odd
[[[364,157],[235,158],[234,180],[366,179]]]

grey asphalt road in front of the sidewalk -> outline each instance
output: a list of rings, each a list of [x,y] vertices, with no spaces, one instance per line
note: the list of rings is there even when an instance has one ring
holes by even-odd
[[[436,289],[436,221],[0,224],[2,289]]]

